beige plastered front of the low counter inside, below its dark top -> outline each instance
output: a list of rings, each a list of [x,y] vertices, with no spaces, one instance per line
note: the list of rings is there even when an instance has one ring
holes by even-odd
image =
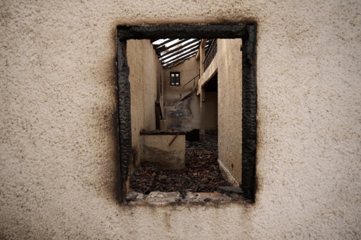
[[[162,169],[185,167],[186,135],[141,135],[142,161],[158,163]]]

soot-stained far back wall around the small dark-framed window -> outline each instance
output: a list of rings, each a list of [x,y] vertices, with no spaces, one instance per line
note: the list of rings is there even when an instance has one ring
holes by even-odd
[[[195,90],[199,77],[195,79],[194,87],[192,81],[183,88],[188,81],[199,74],[199,66],[199,60],[192,57],[164,70],[164,117],[169,128],[185,131],[200,128],[200,100]],[[170,86],[170,72],[181,73],[180,86]]]

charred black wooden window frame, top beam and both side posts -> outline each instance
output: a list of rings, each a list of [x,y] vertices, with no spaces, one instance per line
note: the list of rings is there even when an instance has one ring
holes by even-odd
[[[257,86],[257,24],[242,25],[158,25],[117,27],[117,87],[119,134],[119,196],[126,202],[131,150],[129,67],[126,41],[129,39],[242,39],[242,189],[248,199],[255,199]]]

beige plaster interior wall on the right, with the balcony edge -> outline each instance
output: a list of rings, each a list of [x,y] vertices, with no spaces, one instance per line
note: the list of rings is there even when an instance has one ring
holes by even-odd
[[[198,83],[201,89],[218,72],[218,162],[227,181],[235,186],[242,178],[241,45],[242,39],[217,39],[217,54]]]

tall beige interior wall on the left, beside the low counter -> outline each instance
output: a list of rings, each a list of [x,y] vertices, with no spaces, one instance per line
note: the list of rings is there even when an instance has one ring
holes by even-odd
[[[134,163],[130,164],[132,167],[142,161],[140,130],[156,129],[155,102],[162,70],[150,40],[128,40],[127,61],[134,155]]]

